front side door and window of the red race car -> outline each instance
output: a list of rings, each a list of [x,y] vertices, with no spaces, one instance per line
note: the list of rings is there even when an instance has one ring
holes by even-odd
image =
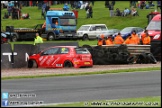
[[[58,51],[58,47],[43,51],[38,59],[38,65],[40,67],[55,67],[54,63],[58,61]]]

